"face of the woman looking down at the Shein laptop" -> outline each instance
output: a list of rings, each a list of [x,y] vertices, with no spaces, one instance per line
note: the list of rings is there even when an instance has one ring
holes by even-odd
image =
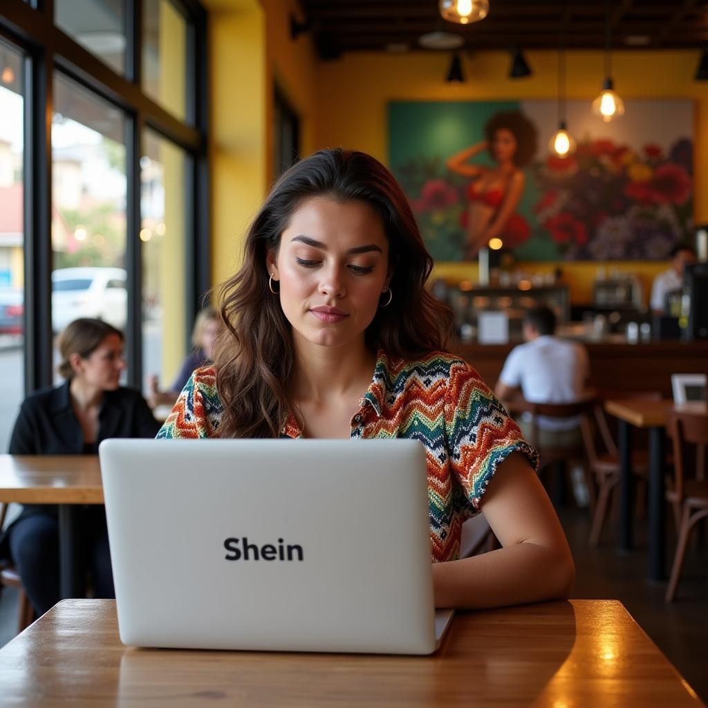
[[[296,341],[337,347],[362,337],[374,319],[388,261],[384,224],[372,207],[312,197],[293,213],[266,265]]]

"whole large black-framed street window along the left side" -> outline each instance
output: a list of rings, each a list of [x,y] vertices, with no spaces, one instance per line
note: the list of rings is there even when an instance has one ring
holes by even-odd
[[[76,317],[125,331],[140,387],[190,347],[210,286],[205,18],[198,0],[0,2],[4,440]]]

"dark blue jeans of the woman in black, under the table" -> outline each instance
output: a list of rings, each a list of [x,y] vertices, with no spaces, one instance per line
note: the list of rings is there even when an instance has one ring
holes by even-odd
[[[115,598],[102,506],[82,510],[81,539],[85,567],[93,576],[93,597]],[[59,521],[43,513],[21,518],[13,525],[9,542],[25,592],[37,614],[43,615],[59,602]]]

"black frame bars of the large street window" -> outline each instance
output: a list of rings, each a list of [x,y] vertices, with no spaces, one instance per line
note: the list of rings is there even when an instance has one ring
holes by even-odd
[[[52,376],[52,141],[53,81],[56,72],[76,81],[123,111],[126,120],[126,251],[128,383],[142,387],[142,241],[140,157],[149,127],[181,147],[185,178],[186,239],[185,350],[191,324],[210,289],[210,179],[207,160],[207,13],[198,0],[169,0],[187,19],[188,52],[185,120],[142,92],[142,0],[126,0],[125,76],[74,41],[54,23],[54,0],[3,0],[0,38],[25,55],[24,96],[24,266],[25,395],[50,386]],[[36,5],[35,8],[33,5]]]

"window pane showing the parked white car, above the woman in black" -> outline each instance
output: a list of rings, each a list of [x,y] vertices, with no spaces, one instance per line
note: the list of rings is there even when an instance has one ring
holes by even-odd
[[[52,330],[78,317],[127,325],[125,117],[55,76]]]

